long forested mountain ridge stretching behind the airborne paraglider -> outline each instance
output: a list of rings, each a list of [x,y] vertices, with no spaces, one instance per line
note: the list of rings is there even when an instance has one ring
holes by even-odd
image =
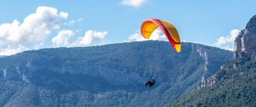
[[[0,106],[164,106],[195,89],[232,52],[142,41],[29,50],[0,58]],[[149,76],[156,83],[145,87]]]

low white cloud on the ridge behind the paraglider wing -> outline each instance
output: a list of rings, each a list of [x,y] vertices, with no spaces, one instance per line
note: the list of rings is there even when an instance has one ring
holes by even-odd
[[[149,39],[145,39],[143,36],[141,36],[140,33],[134,33],[133,35],[130,35],[127,40],[124,40],[124,42],[146,41],[146,40],[168,41],[164,33],[159,28],[157,28],[155,31],[152,32]]]

